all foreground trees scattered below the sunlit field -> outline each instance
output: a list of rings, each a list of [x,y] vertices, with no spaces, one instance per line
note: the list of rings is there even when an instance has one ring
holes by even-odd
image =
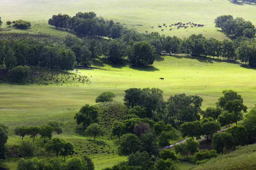
[[[197,95],[177,94],[169,97],[165,102],[162,94],[163,91],[157,88],[130,88],[125,91],[124,104],[129,111],[122,121],[113,122],[112,135],[117,136],[120,141],[117,154],[128,156],[128,161],[105,169],[177,169],[176,154],[186,158],[188,153],[191,153],[194,155],[193,161],[200,164],[217,157],[217,153],[223,154],[223,149],[230,150],[255,141],[256,107],[243,116],[247,107],[243,105],[243,98],[237,92],[223,90],[223,96],[218,98],[216,107],[208,107],[205,111],[200,108],[203,99]],[[112,92],[103,92],[96,101],[111,102],[113,97],[115,95]],[[199,114],[203,116],[202,120]],[[97,135],[104,134],[104,128],[98,124],[97,106],[81,107],[74,119],[77,124],[83,123],[86,133],[93,135],[94,140]],[[218,132],[220,125],[235,122],[237,125],[228,128],[225,132]],[[168,146],[171,139],[178,137],[176,129],[181,132],[183,138],[190,138],[184,143],[176,144],[175,153],[166,149],[159,152],[159,146]],[[51,139],[54,131],[57,134],[62,133],[60,124],[55,121],[50,121],[48,125],[43,126],[20,126],[14,129],[15,134],[20,135],[22,139],[25,135],[31,135],[33,140],[37,134],[41,135],[41,138]],[[200,139],[203,136],[212,139],[213,150],[199,151],[199,143],[194,141],[194,137]],[[8,127],[2,124],[0,124],[0,139],[0,156],[6,158],[5,143],[8,139]],[[62,155],[64,159],[65,156],[74,153],[73,144],[58,137],[48,140],[44,149],[55,153],[57,158],[58,155]],[[18,147],[18,152],[28,158],[33,156],[34,150],[35,147],[31,141],[23,141]],[[49,166],[48,162],[40,163],[41,161],[37,158],[21,159],[18,169],[29,169],[32,165],[44,168]],[[56,163],[56,167],[67,170],[72,169],[73,166],[80,167],[79,169],[89,167],[94,169],[92,161],[85,155],[82,158],[72,158],[67,163],[62,163],[58,159],[49,161]],[[83,163],[83,161],[86,162]],[[74,163],[73,166],[72,163]]]

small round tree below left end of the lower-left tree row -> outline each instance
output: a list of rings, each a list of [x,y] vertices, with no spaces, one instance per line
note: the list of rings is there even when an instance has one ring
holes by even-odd
[[[29,140],[22,141],[18,148],[18,153],[23,156],[28,156],[28,159],[29,159],[29,156],[33,156],[34,151],[35,151],[35,146]]]

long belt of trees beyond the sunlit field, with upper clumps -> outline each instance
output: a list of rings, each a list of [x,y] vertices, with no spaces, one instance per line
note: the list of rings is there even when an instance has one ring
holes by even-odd
[[[56,27],[65,28],[66,26],[79,26],[82,21],[83,24],[93,23],[98,29],[104,27],[110,32],[109,29],[113,29],[115,25],[122,27],[113,21],[96,17],[93,12],[79,12],[72,18],[58,14],[53,16],[49,23],[55,23]],[[228,24],[223,24],[224,22]],[[119,29],[119,36],[111,36],[113,40],[79,39],[73,36],[67,36],[63,43],[54,44],[31,38],[0,40],[0,65],[5,65],[7,69],[17,65],[28,65],[67,71],[73,69],[75,65],[88,67],[90,60],[102,56],[112,63],[122,63],[124,59],[128,59],[131,65],[143,67],[153,64],[156,54],[165,52],[170,55],[179,53],[189,56],[222,57],[228,60],[239,59],[241,62],[255,67],[256,40],[253,38],[255,29],[251,22],[244,21],[242,18],[233,19],[232,16],[220,16],[215,19],[215,23],[216,26],[229,31],[229,34],[238,37],[233,41],[219,41],[214,38],[206,39],[201,34],[193,34],[188,38],[180,39],[176,36],[159,35],[157,32],[145,35],[122,27]],[[91,28],[88,27],[89,30]],[[93,29],[96,28],[93,27]],[[85,32],[83,35],[98,35],[97,31],[85,30]]]

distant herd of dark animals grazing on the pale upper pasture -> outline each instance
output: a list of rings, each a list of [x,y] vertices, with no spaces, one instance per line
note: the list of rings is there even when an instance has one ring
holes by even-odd
[[[184,29],[187,29],[189,28],[189,25],[191,28],[195,28],[195,27],[203,27],[205,26],[204,24],[196,24],[196,23],[191,23],[191,22],[187,22],[187,23],[182,23],[182,22],[177,22],[177,23],[174,23],[174,24],[171,24],[169,25],[169,27],[173,27],[173,28],[169,28],[169,31],[172,31],[173,29],[180,29],[180,28],[184,28]],[[163,27],[165,26],[165,28],[167,28],[166,24],[163,23]],[[174,27],[174,26],[177,26],[177,27]],[[151,26],[150,28],[154,29],[154,26]],[[162,29],[162,26],[158,26],[158,28],[161,28],[161,31],[164,31],[164,29]],[[188,30],[186,30],[186,32],[188,32]],[[146,34],[148,34],[148,31],[145,31]]]

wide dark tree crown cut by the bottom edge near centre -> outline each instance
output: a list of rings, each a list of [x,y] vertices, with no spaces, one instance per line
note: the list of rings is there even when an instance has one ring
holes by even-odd
[[[146,151],[132,153],[128,156],[128,165],[142,167],[142,170],[152,169],[155,162]]]

